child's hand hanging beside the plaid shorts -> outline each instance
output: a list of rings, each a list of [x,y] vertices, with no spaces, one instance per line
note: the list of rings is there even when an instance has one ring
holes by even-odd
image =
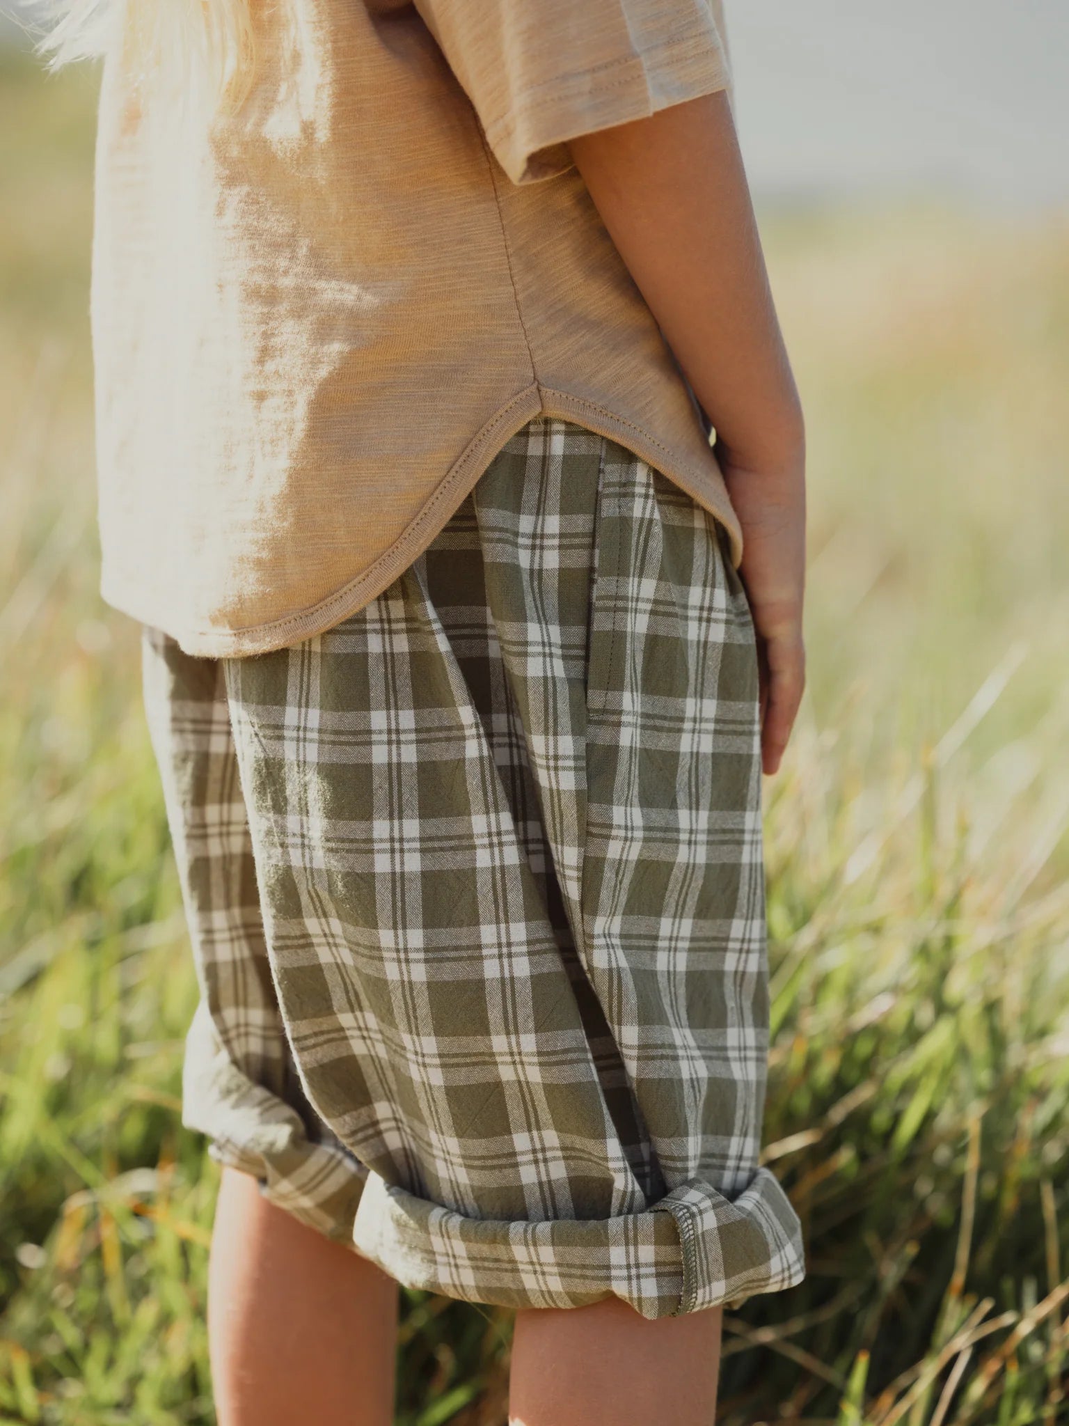
[[[743,525],[740,573],[757,630],[761,674],[761,766],[778,771],[805,689],[805,456],[778,471],[744,469],[717,443],[731,503]]]

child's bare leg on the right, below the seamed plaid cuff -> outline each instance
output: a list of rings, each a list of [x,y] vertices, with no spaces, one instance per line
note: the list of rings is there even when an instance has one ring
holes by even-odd
[[[713,1426],[721,1309],[647,1320],[619,1298],[516,1313],[513,1426]]]

